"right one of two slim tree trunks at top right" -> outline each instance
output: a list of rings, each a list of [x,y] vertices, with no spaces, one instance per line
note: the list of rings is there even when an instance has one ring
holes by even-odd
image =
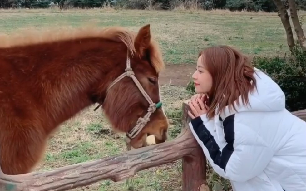
[[[304,31],[303,31],[302,26],[299,22],[299,17],[298,17],[298,14],[297,14],[295,1],[294,0],[288,0],[288,3],[289,3],[291,20],[292,20],[296,35],[298,37],[299,44],[301,45],[302,50],[306,51],[306,41],[305,41]]]

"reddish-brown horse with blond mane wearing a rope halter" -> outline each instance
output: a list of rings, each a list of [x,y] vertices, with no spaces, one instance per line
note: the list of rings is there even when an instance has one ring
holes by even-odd
[[[150,25],[0,37],[0,152],[5,174],[30,172],[50,135],[98,103],[131,146],[167,139],[158,77],[164,62]],[[156,105],[155,105],[156,104]]]

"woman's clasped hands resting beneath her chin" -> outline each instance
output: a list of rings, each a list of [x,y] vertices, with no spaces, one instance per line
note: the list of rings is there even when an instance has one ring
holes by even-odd
[[[188,111],[188,115],[191,117],[191,119],[207,113],[207,100],[208,97],[205,94],[196,94],[191,97],[190,101],[188,102],[191,110]]]

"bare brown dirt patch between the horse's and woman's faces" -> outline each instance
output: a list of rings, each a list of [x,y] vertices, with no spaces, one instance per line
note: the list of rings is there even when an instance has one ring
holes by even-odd
[[[186,87],[195,72],[194,65],[166,65],[165,70],[160,73],[160,85],[174,85]]]

